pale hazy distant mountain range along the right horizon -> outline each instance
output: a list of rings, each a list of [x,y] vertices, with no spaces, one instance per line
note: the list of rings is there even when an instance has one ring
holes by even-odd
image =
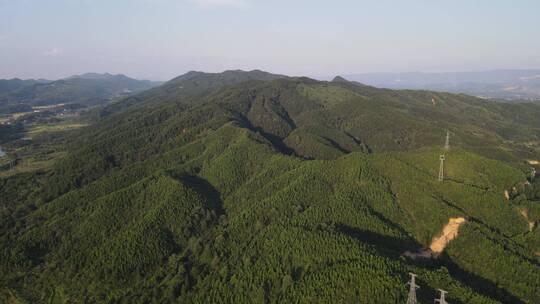
[[[496,99],[540,100],[540,70],[493,70],[455,73],[362,73],[348,80],[389,89],[465,93]]]

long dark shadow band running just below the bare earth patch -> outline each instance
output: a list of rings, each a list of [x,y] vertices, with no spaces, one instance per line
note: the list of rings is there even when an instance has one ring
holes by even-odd
[[[417,267],[425,269],[439,269],[446,267],[450,275],[465,285],[469,286],[475,292],[494,299],[502,303],[524,303],[522,300],[512,295],[505,289],[498,287],[492,281],[480,277],[476,274],[470,273],[456,263],[454,263],[450,257],[446,254],[441,255],[438,259],[418,259],[411,260],[405,259],[402,253],[407,250],[418,250],[422,246],[412,239],[400,239],[392,236],[381,235],[372,231],[361,230],[358,228],[350,227],[343,224],[336,225],[336,230],[349,237],[357,239],[362,243],[372,245],[378,254],[391,258],[405,260],[408,263],[412,263]],[[404,278],[406,280],[406,278]],[[421,283],[421,280],[420,280]],[[444,287],[442,286],[444,289]],[[438,296],[438,292],[434,289],[423,287],[418,292],[418,297],[424,300],[432,301],[434,297]],[[451,297],[452,295],[450,295]],[[452,299],[452,303],[460,303],[459,301]]]

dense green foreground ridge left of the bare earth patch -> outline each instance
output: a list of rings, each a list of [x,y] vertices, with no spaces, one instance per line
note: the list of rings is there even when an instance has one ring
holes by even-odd
[[[384,303],[404,299],[415,271],[425,301],[442,284],[451,299],[490,303],[399,258],[418,245],[391,219],[405,215],[390,185],[363,154],[306,162],[225,124],[40,208],[11,258],[21,271],[50,265],[37,290],[72,299]]]

